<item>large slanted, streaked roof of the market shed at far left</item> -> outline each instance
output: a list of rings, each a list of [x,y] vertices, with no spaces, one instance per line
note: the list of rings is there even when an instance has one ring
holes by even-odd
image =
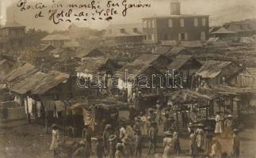
[[[59,83],[67,80],[69,75],[57,71],[41,72],[35,66],[28,63],[8,73],[5,77],[11,91],[19,94],[31,92],[43,94],[54,88]]]

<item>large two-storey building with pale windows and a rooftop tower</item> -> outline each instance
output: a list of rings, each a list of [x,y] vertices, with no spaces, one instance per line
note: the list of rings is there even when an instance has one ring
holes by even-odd
[[[208,40],[208,15],[181,14],[180,2],[170,2],[170,15],[143,18],[147,43],[162,40]]]

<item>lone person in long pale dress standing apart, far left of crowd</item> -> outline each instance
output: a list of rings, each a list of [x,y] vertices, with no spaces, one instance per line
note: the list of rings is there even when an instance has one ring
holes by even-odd
[[[58,130],[58,126],[54,123],[52,124],[52,143],[50,146],[50,150],[53,151],[53,157],[57,157],[58,156],[58,149],[59,146],[59,130]]]

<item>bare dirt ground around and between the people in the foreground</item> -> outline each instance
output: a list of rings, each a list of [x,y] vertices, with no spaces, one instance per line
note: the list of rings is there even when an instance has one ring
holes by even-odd
[[[159,126],[161,129],[161,126]],[[241,137],[241,157],[256,158],[256,129],[243,130]],[[25,124],[13,128],[0,129],[0,157],[1,158],[48,158],[52,157],[49,151],[51,144],[51,134],[45,134],[44,126],[36,123]],[[61,137],[63,139],[63,137]],[[68,139],[68,138],[67,138]],[[78,138],[79,139],[79,138]],[[162,138],[159,138],[157,152],[155,156],[160,156],[162,149]],[[223,152],[231,151],[231,140],[220,139]],[[181,156],[189,157],[189,140],[186,137],[181,138]],[[143,153],[147,152],[147,147],[143,149]],[[155,157],[154,156],[154,157]],[[153,157],[143,154],[143,157]],[[201,156],[198,156],[201,157]]]

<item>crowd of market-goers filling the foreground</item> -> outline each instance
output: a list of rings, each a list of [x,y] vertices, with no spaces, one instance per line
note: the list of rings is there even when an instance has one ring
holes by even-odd
[[[109,158],[132,158],[132,157],[162,157],[174,156],[191,157],[239,157],[240,138],[239,130],[234,128],[232,115],[220,115],[216,112],[216,125],[204,126],[201,122],[189,122],[186,128],[189,135],[189,152],[181,149],[181,132],[178,129],[178,119],[172,110],[173,103],[168,102],[162,108],[160,100],[155,108],[147,111],[138,111],[138,115],[130,117],[126,122],[120,122],[119,126],[105,125],[101,135],[94,136],[89,124],[85,124],[82,130],[82,140],[78,142],[71,152],[71,157],[109,157]],[[117,120],[118,121],[118,120]],[[163,124],[165,136],[159,135],[160,124]],[[162,128],[162,126],[161,126]],[[231,154],[222,152],[220,139],[232,139],[233,151]],[[157,152],[162,140],[162,152]],[[163,148],[162,148],[163,147]],[[52,125],[52,145],[54,157],[61,157],[59,148],[58,126]],[[160,148],[159,148],[160,149]],[[145,152],[146,151],[146,152]]]

